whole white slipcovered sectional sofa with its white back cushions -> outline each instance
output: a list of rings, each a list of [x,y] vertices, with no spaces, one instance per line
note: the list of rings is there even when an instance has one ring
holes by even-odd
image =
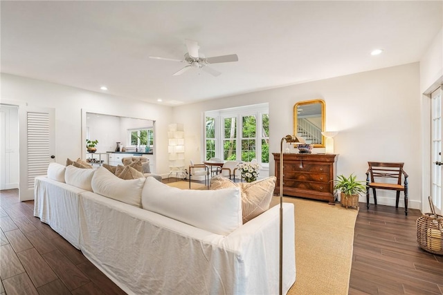
[[[181,190],[154,178],[111,183],[102,167],[51,165],[48,176],[35,179],[34,215],[128,294],[278,294],[278,207],[242,224],[238,189]],[[84,189],[88,181],[92,191]],[[119,196],[113,185],[120,195],[135,188]],[[296,279],[293,204],[283,211],[286,293]]]

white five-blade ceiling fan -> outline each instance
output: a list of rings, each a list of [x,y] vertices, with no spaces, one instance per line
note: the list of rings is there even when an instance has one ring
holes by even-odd
[[[197,41],[193,41],[190,39],[185,39],[186,47],[188,48],[188,53],[185,54],[185,59],[169,59],[165,57],[150,57],[151,59],[163,59],[169,61],[179,61],[186,62],[188,66],[181,68],[177,73],[174,73],[174,76],[181,75],[185,73],[190,68],[199,68],[204,70],[206,73],[213,75],[215,77],[219,76],[221,73],[213,68],[210,68],[208,64],[219,64],[222,62],[230,62],[230,61],[238,61],[237,55],[220,55],[218,57],[204,57],[201,53],[199,54],[199,44]]]

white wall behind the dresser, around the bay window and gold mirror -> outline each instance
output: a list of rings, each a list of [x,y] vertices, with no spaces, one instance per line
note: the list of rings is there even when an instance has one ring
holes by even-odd
[[[409,206],[419,209],[422,189],[422,146],[417,140],[422,132],[419,82],[419,64],[414,63],[176,106],[173,117],[184,124],[186,161],[201,161],[204,111],[269,102],[270,151],[279,153],[282,137],[293,134],[293,105],[303,100],[324,99],[326,130],[339,131],[334,137],[335,153],[339,154],[338,173],[356,173],[359,180],[365,180],[368,161],[405,162]],[[273,159],[269,162],[269,173],[274,175]],[[394,205],[395,193],[379,191],[377,200],[379,204]],[[365,202],[365,198],[361,197],[361,201]],[[403,206],[402,200],[400,205]]]

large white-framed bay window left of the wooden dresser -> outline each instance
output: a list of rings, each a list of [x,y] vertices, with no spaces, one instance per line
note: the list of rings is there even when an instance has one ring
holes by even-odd
[[[205,113],[206,160],[269,164],[269,106],[257,104]]]

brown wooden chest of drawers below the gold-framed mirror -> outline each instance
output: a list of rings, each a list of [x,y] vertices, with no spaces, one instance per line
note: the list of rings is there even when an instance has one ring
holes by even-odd
[[[273,153],[275,160],[275,195],[280,195],[280,153]],[[334,180],[338,155],[318,153],[283,154],[283,195],[334,204]],[[300,163],[302,167],[300,167]]]

